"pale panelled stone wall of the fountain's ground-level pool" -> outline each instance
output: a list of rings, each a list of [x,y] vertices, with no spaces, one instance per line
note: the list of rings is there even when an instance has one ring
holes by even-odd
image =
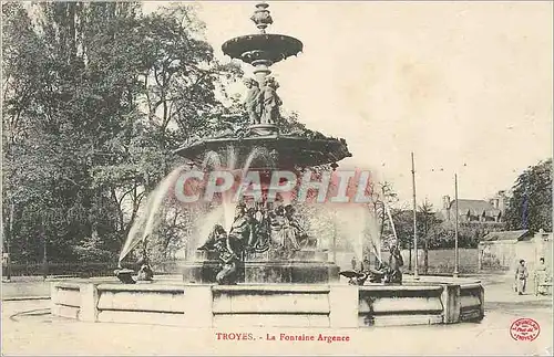
[[[152,284],[61,280],[51,284],[52,314],[83,322],[188,327],[373,327],[479,322],[484,290],[479,281],[406,276],[403,285]]]

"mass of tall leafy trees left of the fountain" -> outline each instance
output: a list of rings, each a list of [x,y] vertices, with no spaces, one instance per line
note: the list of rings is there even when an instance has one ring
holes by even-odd
[[[116,256],[171,150],[228,111],[218,86],[240,73],[202,30],[182,6],[2,3],[2,219],[17,259],[40,259],[40,231],[60,261]]]

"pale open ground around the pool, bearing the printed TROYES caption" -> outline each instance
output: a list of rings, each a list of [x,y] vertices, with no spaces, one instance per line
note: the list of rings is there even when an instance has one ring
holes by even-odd
[[[194,329],[131,324],[86,324],[52,317],[49,301],[2,304],[2,355],[512,355],[552,356],[551,296],[517,296],[510,279],[486,277],[486,316],[480,324],[326,328]],[[511,323],[531,317],[541,325],[534,342],[510,337]],[[350,342],[217,340],[217,333],[341,334]]]

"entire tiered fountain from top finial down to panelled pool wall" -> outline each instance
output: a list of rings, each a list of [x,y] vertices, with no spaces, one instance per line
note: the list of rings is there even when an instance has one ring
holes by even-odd
[[[198,171],[238,172],[239,182],[254,172],[259,177],[261,195],[234,201],[233,196],[222,193],[217,203],[223,218],[209,216],[209,233],[194,246],[194,259],[166,269],[174,274],[170,277],[154,277],[144,246],[156,210],[170,187],[178,182],[183,168],[175,169],[148,197],[146,218],[137,221],[145,229],[131,230],[120,255],[119,282],[55,281],[52,313],[88,322],[192,327],[335,328],[481,321],[484,291],[480,282],[439,276],[402,279],[399,251],[391,254],[389,266],[393,267],[379,262],[377,269],[365,272],[343,271],[340,274],[350,282],[340,282],[336,252],[298,221],[298,192],[271,195],[276,183],[273,172],[301,176],[310,168],[335,171],[337,162],[351,154],[343,139],[308,129],[290,130],[280,117],[283,102],[270,66],[300,53],[302,43],[266,32],[273,23],[267,3],[256,6],[252,20],[258,33],[232,39],[222,48],[232,59],[254,66],[255,78],[244,80],[248,126],[196,138],[175,153]],[[143,256],[134,279],[135,272],[122,269],[121,262],[141,242]]]

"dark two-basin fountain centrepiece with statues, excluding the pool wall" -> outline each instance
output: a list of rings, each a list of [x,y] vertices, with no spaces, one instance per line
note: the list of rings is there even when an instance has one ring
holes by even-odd
[[[265,187],[270,183],[270,174],[274,170],[288,170],[298,176],[301,170],[316,166],[330,165],[336,168],[337,161],[351,156],[343,139],[328,138],[310,130],[284,133],[284,129],[288,128],[283,127],[284,122],[279,115],[281,102],[276,91],[278,84],[270,76],[269,69],[273,64],[298,54],[302,50],[302,43],[288,35],[266,33],[267,27],[273,23],[267,8],[266,3],[257,4],[252,17],[259,33],[232,39],[222,48],[232,59],[242,60],[254,66],[255,78],[245,80],[248,87],[245,106],[250,120],[246,132],[242,135],[228,133],[203,138],[176,151],[195,162],[206,162],[206,157],[215,155],[219,167],[240,168],[243,175],[256,170]],[[338,280],[339,267],[334,262],[328,262],[328,252],[318,245],[317,238],[301,237],[301,229],[297,228],[294,232],[294,242],[279,243],[275,239],[271,240],[273,237],[280,234],[276,230],[281,229],[274,223],[294,219],[291,214],[285,217],[284,202],[268,200],[264,195],[258,201],[244,203],[245,207],[238,208],[236,224],[226,233],[230,239],[245,234],[255,237],[249,239],[250,242],[246,246],[233,252],[238,258],[238,271],[234,273],[234,281],[327,283]],[[294,210],[294,202],[289,204],[287,210]],[[248,218],[247,212],[254,217]],[[264,225],[269,229],[264,230]],[[300,242],[302,239],[304,242]],[[236,240],[239,241],[240,238]],[[218,259],[220,254],[214,244],[204,244],[202,250],[197,251],[196,261],[183,266],[185,281],[216,282],[217,273],[220,271]]]

